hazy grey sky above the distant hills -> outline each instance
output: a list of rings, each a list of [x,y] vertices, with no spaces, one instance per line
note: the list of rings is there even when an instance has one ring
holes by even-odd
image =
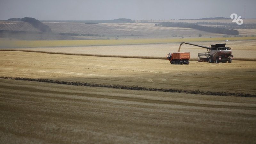
[[[0,20],[196,19],[232,13],[256,18],[256,0],[0,0]]]

